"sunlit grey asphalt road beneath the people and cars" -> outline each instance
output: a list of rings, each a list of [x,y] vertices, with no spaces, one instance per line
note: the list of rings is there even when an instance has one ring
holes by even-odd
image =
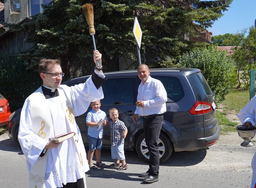
[[[174,152],[161,164],[159,181],[147,184],[138,177],[148,165],[135,151],[125,151],[127,170],[98,168],[86,172],[88,188],[248,188],[251,160],[256,146],[241,147],[237,133],[221,135],[210,149]],[[94,158],[95,160],[95,158]],[[27,188],[28,171],[22,151],[5,133],[0,136],[0,188]],[[96,162],[96,161],[94,161]],[[102,162],[110,165],[110,150],[102,150]]]

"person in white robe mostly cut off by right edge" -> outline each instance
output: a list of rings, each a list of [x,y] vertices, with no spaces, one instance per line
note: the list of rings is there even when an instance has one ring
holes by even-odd
[[[246,125],[248,128],[250,125],[255,126],[256,122],[256,96],[238,113],[237,117],[241,121],[242,125]],[[251,188],[256,188],[256,153],[252,158],[252,182]]]

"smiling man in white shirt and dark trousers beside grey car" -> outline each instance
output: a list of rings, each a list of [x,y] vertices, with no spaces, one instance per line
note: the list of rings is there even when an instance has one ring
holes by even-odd
[[[149,149],[149,170],[139,177],[144,178],[144,182],[153,183],[159,180],[158,140],[163,124],[163,113],[166,112],[167,93],[162,82],[150,76],[146,64],[139,65],[137,70],[141,84],[138,88],[133,121],[137,123],[138,117],[142,116],[145,140]]]

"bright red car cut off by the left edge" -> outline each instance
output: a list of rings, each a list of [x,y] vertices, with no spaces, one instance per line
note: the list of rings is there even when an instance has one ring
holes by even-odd
[[[0,126],[6,125],[11,115],[9,102],[0,94]]]

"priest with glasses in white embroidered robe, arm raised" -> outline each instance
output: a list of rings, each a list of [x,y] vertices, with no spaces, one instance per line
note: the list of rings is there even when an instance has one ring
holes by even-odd
[[[102,99],[101,85],[107,79],[102,72],[101,54],[92,76],[75,86],[60,85],[59,59],[42,59],[39,74],[42,85],[24,103],[20,116],[19,142],[27,159],[29,187],[86,188],[85,172],[89,170],[86,152],[75,116],[84,114],[92,101]],[[49,138],[75,132],[61,143]]]

